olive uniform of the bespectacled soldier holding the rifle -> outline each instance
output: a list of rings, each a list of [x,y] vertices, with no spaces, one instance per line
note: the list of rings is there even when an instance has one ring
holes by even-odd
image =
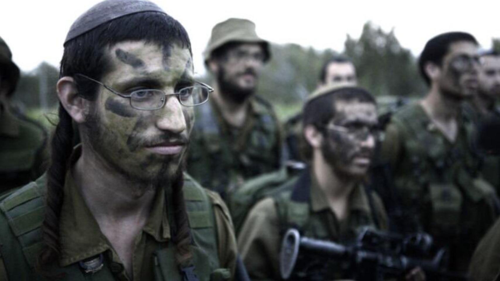
[[[356,186],[348,199],[347,218],[339,221],[311,175],[305,170],[286,180],[282,192],[261,200],[248,214],[238,235],[238,249],[252,280],[281,280],[279,248],[289,227],[306,237],[340,243],[352,242],[360,227],[387,229],[384,208],[375,194]]]

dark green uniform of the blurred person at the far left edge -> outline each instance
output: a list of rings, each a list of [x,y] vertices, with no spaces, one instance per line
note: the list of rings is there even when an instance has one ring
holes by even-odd
[[[47,138],[41,125],[3,107],[0,111],[0,192],[33,181],[45,171]]]

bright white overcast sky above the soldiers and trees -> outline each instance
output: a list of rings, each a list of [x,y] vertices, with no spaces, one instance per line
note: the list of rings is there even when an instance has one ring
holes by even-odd
[[[343,50],[346,34],[358,38],[370,20],[394,28],[403,47],[418,55],[432,36],[452,30],[472,33],[483,48],[500,37],[500,1],[448,0],[153,0],[186,28],[195,71],[211,28],[228,17],[255,22],[257,34],[274,43]],[[23,70],[41,61],[58,66],[71,23],[99,0],[1,0],[0,36]]]

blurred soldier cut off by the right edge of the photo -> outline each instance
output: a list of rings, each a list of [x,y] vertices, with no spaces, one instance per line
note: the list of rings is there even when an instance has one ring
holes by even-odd
[[[480,55],[479,87],[474,98],[464,105],[465,114],[477,126],[487,118],[500,117],[496,101],[500,98],[500,53],[484,52]],[[484,157],[481,173],[500,194],[500,158]]]

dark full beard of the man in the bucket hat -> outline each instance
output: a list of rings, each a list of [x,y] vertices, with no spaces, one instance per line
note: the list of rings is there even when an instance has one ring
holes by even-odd
[[[226,71],[223,67],[219,67],[216,80],[220,89],[220,94],[224,99],[230,100],[233,103],[241,104],[255,92],[255,87],[252,88],[242,88],[237,85],[231,79],[228,79]],[[238,74],[252,74],[256,76],[256,73],[251,68],[246,69],[243,73]]]

